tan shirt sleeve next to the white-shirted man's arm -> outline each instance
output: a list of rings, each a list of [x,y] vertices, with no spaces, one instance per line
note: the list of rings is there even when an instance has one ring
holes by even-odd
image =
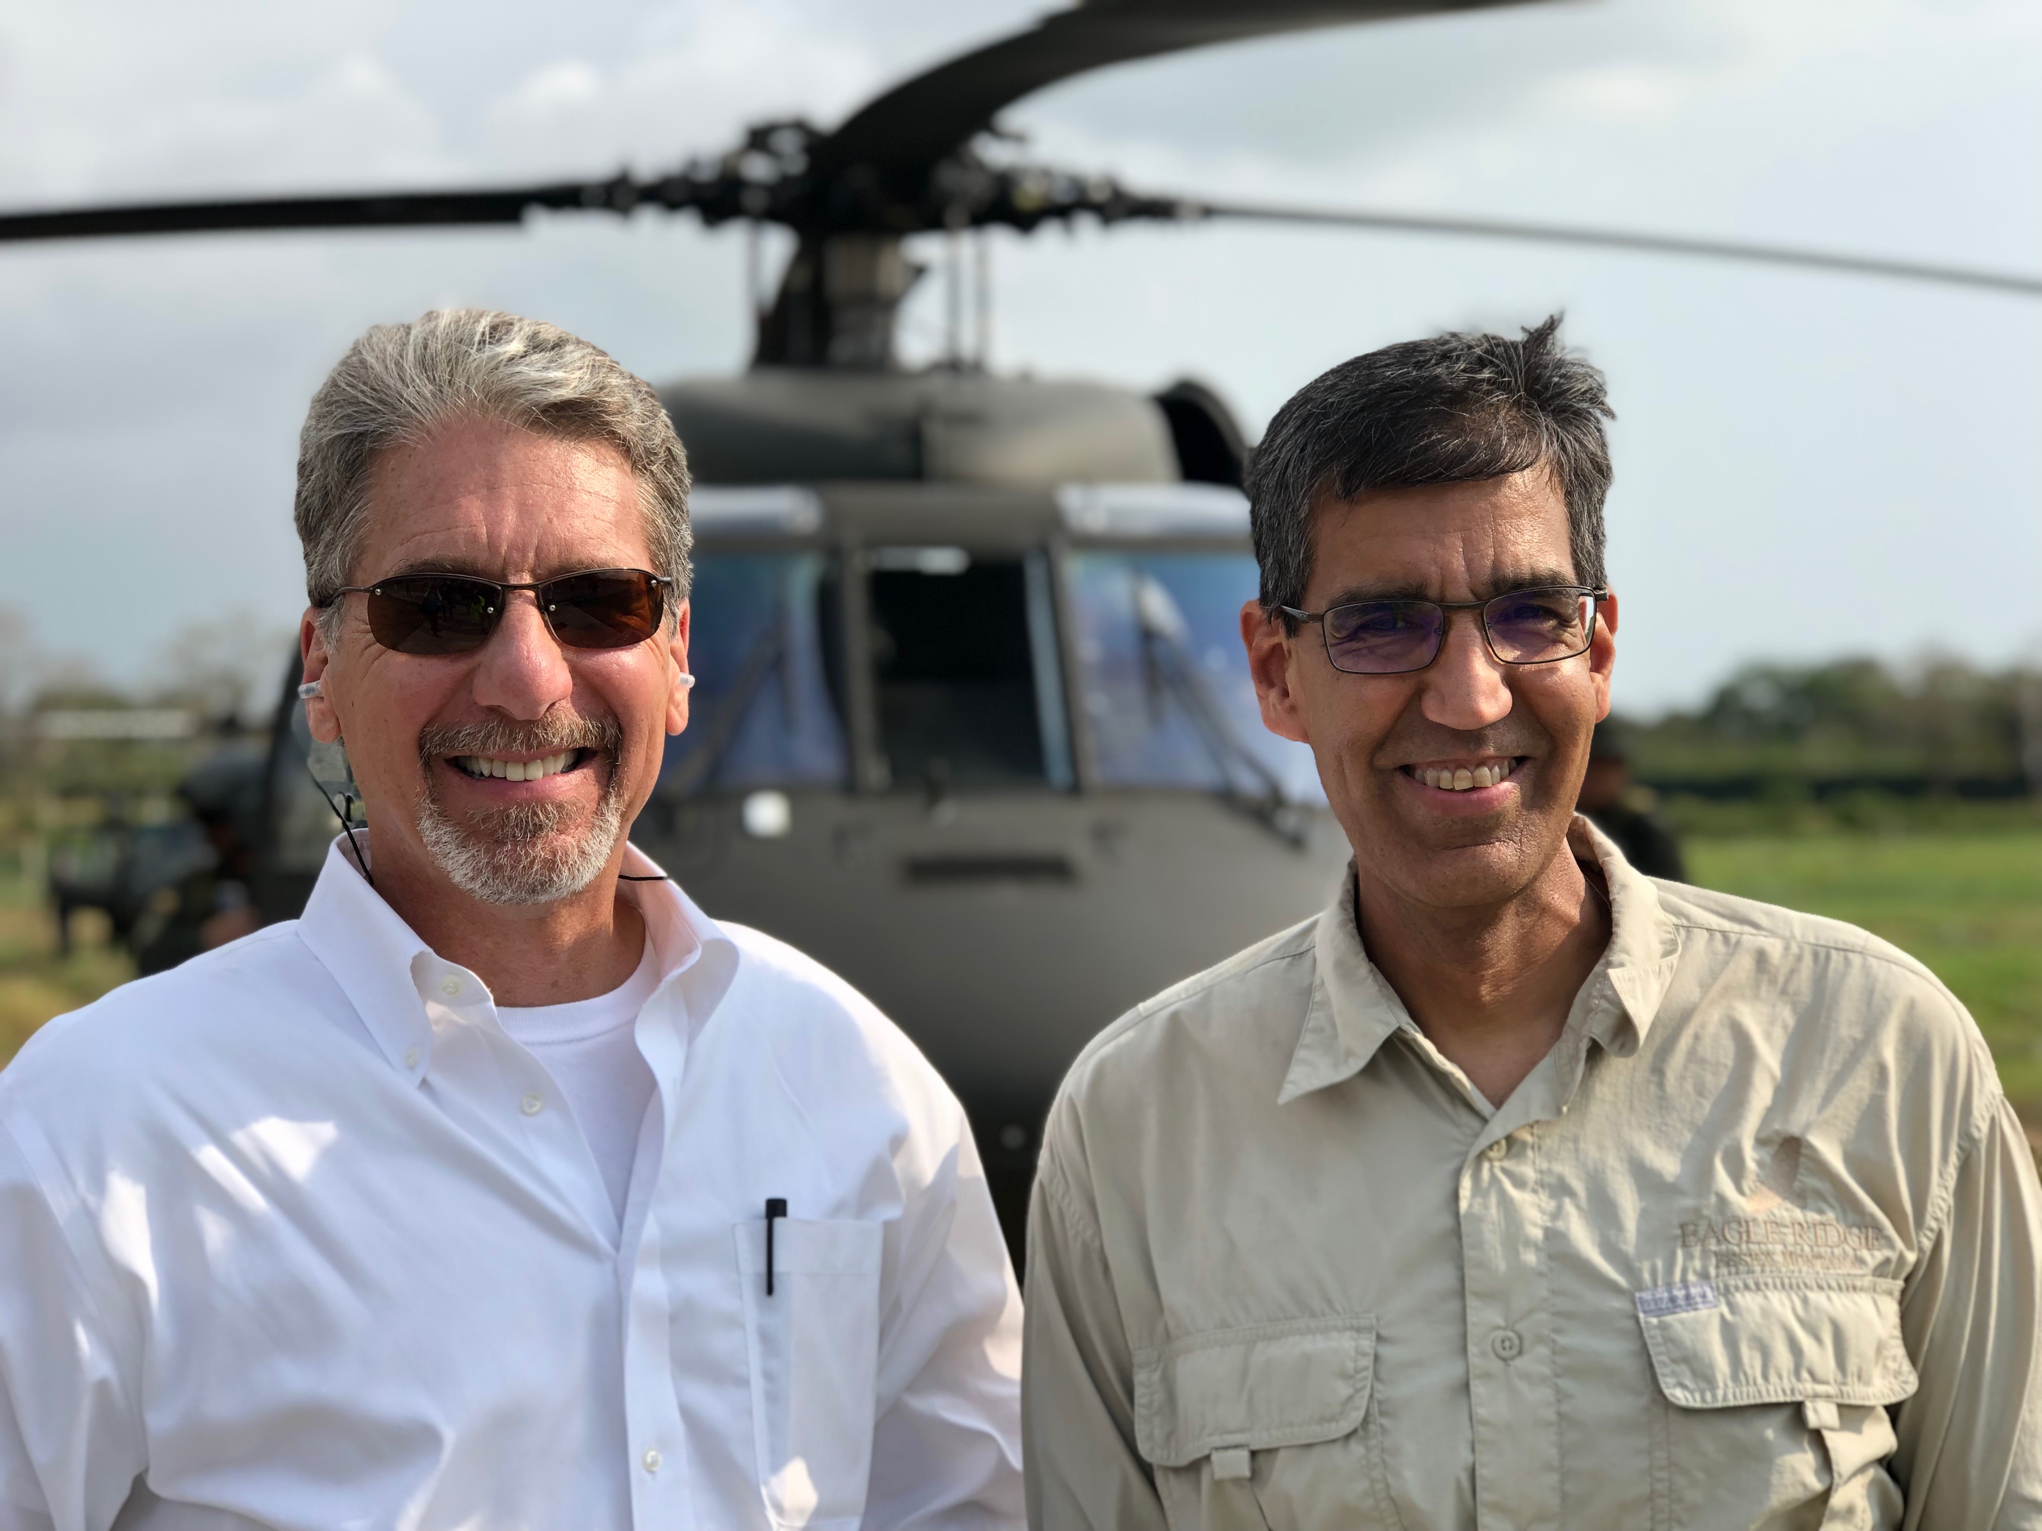
[[[1072,1186],[1056,1133],[1029,1202],[1027,1366],[1021,1431],[1029,1527],[1160,1531],[1162,1500],[1135,1451],[1133,1357],[1099,1223]]]

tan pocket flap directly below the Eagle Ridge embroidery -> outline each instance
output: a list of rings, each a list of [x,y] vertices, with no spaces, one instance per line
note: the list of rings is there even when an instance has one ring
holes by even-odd
[[[1681,1409],[1893,1404],[1919,1386],[1899,1296],[1877,1276],[1719,1276],[1638,1292],[1638,1323]]]

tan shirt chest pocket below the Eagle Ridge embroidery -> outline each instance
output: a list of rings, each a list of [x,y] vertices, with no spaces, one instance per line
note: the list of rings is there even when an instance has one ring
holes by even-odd
[[[1901,1341],[1899,1282],[1873,1276],[1723,1276],[1666,1313],[1640,1294],[1652,1370],[1670,1409],[1654,1429],[1652,1527],[1785,1519],[1824,1507],[1824,1527],[1899,1525],[1885,1470],[1887,1406],[1919,1386]]]

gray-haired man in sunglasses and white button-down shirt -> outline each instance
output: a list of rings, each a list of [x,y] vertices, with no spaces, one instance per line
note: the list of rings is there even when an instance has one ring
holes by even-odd
[[[0,1531],[1019,1521],[964,1113],[625,839],[686,496],[551,325],[372,329],[314,396],[300,694],[368,829],[0,1074]]]

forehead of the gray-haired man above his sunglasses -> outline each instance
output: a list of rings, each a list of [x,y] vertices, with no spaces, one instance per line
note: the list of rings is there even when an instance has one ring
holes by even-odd
[[[370,467],[355,580],[412,570],[543,580],[651,567],[637,480],[606,441],[459,421]]]

